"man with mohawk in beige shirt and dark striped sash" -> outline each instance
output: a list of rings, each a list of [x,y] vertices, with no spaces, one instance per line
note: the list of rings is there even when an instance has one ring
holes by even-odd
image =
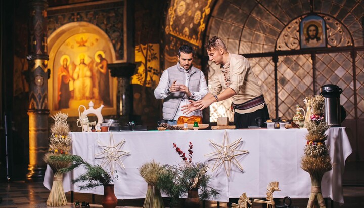
[[[263,93],[248,60],[239,54],[229,53],[217,36],[210,37],[205,47],[209,60],[221,65],[221,68],[215,71],[209,82],[209,93],[202,100],[190,100],[190,104],[182,106],[183,113],[202,110],[214,102],[232,97],[231,110],[234,111],[237,129],[257,126],[256,118],[261,118],[263,122],[269,119]]]

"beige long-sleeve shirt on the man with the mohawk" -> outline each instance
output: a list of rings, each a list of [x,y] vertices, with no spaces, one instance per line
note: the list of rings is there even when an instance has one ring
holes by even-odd
[[[229,68],[228,68],[229,67]],[[262,95],[262,91],[253,71],[250,68],[249,61],[239,54],[229,54],[228,61],[223,65],[223,68],[215,71],[212,80],[210,80],[211,88],[209,93],[218,95],[222,90],[228,88],[226,86],[224,72],[229,70],[230,85],[237,94],[233,96],[234,104],[242,104],[253,98]],[[237,113],[251,113],[262,109],[264,104],[249,108],[247,110],[235,109]]]

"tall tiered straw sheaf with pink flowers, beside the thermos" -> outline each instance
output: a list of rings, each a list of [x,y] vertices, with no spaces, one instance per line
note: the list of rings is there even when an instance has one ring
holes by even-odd
[[[306,135],[306,146],[301,161],[301,167],[311,177],[311,194],[308,199],[307,208],[325,207],[325,201],[321,193],[321,180],[325,172],[332,169],[329,148],[325,144],[326,130],[329,124],[324,117],[325,98],[321,95],[309,97],[312,115],[307,122],[308,134]]]

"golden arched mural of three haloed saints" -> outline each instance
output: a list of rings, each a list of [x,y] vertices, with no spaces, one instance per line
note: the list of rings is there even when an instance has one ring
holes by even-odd
[[[55,110],[77,109],[92,100],[112,107],[113,82],[108,69],[111,51],[97,34],[79,33],[60,46],[53,62]]]

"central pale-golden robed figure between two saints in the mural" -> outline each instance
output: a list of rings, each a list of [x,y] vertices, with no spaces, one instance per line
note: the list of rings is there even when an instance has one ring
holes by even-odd
[[[92,71],[85,63],[85,55],[79,56],[80,63],[73,72],[74,99],[83,100],[92,98]]]

